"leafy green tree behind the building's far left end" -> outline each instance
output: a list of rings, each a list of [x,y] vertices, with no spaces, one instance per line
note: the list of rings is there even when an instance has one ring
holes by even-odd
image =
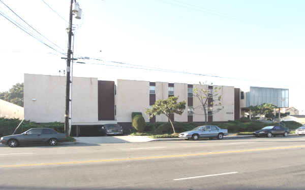
[[[0,92],[0,99],[23,107],[23,83],[17,83],[9,91]]]

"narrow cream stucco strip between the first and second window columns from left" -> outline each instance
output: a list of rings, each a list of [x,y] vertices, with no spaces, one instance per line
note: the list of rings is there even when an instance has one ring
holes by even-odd
[[[168,83],[156,82],[156,101],[164,100],[167,98],[168,98]],[[167,122],[167,121],[168,119],[164,114],[160,116],[156,116],[156,122]]]

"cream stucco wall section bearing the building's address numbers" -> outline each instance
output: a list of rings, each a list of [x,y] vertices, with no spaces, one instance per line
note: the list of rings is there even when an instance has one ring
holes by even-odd
[[[222,110],[220,110],[217,113],[214,113],[213,115],[213,121],[228,121],[233,120],[234,121],[234,87],[229,86],[213,86],[215,87],[221,87],[219,90],[220,94],[222,95],[222,100],[220,108],[223,107]],[[218,107],[213,106],[213,110],[216,110]]]

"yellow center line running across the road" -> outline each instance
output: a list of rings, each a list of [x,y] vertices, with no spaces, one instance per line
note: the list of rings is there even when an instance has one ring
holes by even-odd
[[[278,150],[278,149],[290,149],[290,148],[301,148],[301,147],[305,147],[305,145],[300,145],[300,146],[281,146],[281,147],[270,147],[270,148],[256,148],[256,149],[245,149],[245,150],[228,150],[228,151],[216,151],[216,152],[197,153],[197,154],[185,154],[185,155],[167,155],[167,156],[125,158],[125,159],[106,159],[106,160],[92,160],[92,161],[74,161],[74,162],[55,162],[55,163],[37,163],[37,164],[0,165],[0,168],[25,167],[25,166],[67,165],[67,164],[97,163],[97,162],[115,162],[115,161],[131,161],[131,160],[147,160],[147,159],[177,158],[177,157],[192,157],[192,156],[230,154],[230,153],[246,153],[246,152],[252,152],[252,151]]]

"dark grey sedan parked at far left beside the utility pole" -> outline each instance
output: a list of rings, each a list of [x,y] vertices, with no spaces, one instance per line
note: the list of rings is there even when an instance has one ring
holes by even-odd
[[[55,146],[57,142],[67,141],[66,134],[57,133],[50,128],[32,128],[18,135],[9,135],[0,138],[1,144],[17,147],[20,144],[48,143]]]

